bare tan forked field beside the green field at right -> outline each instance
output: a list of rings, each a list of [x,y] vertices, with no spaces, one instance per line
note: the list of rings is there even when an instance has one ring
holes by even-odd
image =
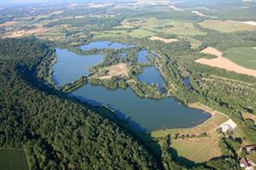
[[[251,69],[247,69],[247,68],[242,67],[240,65],[236,65],[235,63],[233,63],[229,59],[224,58],[223,53],[219,52],[215,48],[210,48],[210,47],[205,48],[201,51],[201,53],[203,53],[203,54],[213,54],[213,55],[216,55],[217,58],[215,58],[215,59],[203,59],[203,58],[196,59],[195,60],[196,63],[200,63],[202,65],[210,65],[212,67],[218,67],[220,69],[225,69],[227,71],[234,71],[236,73],[246,74],[246,75],[249,75],[249,76],[256,77],[256,71],[253,71]]]

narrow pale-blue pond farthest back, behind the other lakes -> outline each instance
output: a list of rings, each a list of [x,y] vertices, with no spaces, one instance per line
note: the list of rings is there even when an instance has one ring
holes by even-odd
[[[109,41],[101,41],[101,42],[90,42],[88,44],[82,45],[80,48],[84,51],[91,50],[93,48],[97,49],[108,49],[108,48],[114,48],[114,49],[120,49],[120,48],[131,48],[134,47],[133,45],[127,45],[124,43],[119,42],[109,42]]]

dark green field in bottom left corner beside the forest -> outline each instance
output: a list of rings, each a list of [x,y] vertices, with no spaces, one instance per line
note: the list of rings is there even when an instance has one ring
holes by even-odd
[[[28,170],[26,156],[23,150],[0,150],[0,169]]]

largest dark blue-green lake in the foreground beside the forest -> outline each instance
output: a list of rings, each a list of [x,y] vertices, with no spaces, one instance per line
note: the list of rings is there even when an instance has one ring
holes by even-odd
[[[149,131],[168,127],[194,127],[211,117],[203,111],[178,103],[174,98],[139,98],[131,88],[109,90],[86,84],[72,94],[92,105],[108,105]]]

